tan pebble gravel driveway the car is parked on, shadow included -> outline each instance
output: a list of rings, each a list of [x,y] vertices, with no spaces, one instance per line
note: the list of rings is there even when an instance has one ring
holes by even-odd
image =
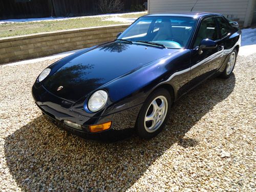
[[[255,191],[255,61],[188,93],[156,138],[116,143],[41,115],[31,87],[53,60],[0,67],[0,191]]]

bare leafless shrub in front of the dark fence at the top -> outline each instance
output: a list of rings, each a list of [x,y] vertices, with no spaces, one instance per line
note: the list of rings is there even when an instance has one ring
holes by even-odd
[[[123,9],[123,3],[120,0],[99,0],[98,6],[102,13],[113,13]]]

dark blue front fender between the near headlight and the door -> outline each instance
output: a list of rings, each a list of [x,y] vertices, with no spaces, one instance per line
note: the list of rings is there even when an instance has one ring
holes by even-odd
[[[189,50],[178,51],[160,58],[149,65],[112,81],[104,86],[111,104],[104,114],[116,113],[132,108],[145,99],[159,86],[173,87],[175,98],[189,81]]]

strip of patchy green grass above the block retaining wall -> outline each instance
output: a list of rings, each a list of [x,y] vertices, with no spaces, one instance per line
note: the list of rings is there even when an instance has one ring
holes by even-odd
[[[145,13],[146,14],[146,13]],[[122,15],[123,18],[137,18],[143,14]],[[67,20],[42,21],[42,22],[25,22],[13,24],[0,24],[0,37],[10,37],[17,35],[27,35],[33,33],[51,32],[66,29],[77,29],[84,27],[97,27],[107,25],[125,24],[104,20],[112,16],[105,17],[80,17]]]

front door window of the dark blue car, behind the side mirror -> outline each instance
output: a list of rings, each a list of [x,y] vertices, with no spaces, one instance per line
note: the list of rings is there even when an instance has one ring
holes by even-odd
[[[214,17],[206,18],[201,22],[194,47],[198,47],[203,39],[218,39],[218,30]]]

